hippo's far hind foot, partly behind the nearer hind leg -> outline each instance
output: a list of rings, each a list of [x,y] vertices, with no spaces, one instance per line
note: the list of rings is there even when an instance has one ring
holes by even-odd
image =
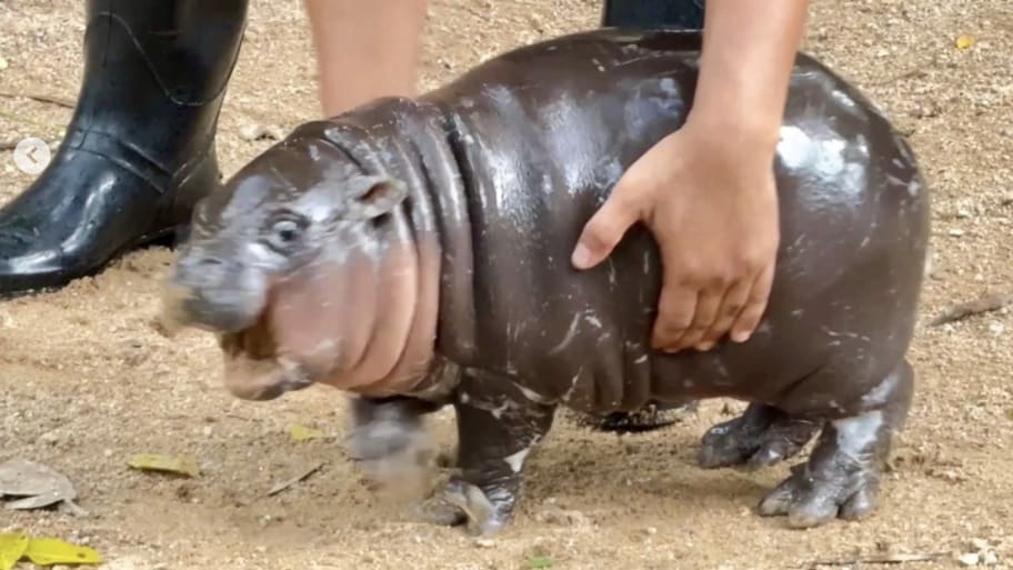
[[[819,429],[815,421],[792,418],[764,403],[751,403],[742,416],[708,430],[700,464],[705,469],[769,467],[798,454]]]

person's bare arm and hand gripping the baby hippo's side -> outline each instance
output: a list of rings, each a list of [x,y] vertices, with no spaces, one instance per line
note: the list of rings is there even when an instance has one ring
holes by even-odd
[[[659,242],[663,288],[652,346],[743,342],[766,307],[780,240],[773,157],[805,0],[709,0],[694,103],[685,124],[620,179],[573,252],[585,269],[643,221]]]

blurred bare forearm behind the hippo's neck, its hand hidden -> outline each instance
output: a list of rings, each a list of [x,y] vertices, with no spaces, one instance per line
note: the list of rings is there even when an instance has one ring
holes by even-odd
[[[415,94],[427,4],[305,0],[325,117],[380,97]]]

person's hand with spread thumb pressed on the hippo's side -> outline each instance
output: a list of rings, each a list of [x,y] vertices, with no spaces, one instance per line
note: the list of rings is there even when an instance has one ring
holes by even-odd
[[[586,269],[643,221],[659,242],[663,287],[652,347],[744,342],[766,308],[780,241],[774,144],[691,119],[623,174],[573,252]],[[766,138],[769,139],[769,137]]]

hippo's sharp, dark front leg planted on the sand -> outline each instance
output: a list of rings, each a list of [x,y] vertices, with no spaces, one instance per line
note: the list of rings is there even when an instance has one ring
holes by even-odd
[[[524,460],[552,427],[555,406],[532,401],[510,378],[465,372],[454,409],[460,474],[444,490],[450,509],[434,519],[467,520],[473,534],[495,534],[513,513]]]

